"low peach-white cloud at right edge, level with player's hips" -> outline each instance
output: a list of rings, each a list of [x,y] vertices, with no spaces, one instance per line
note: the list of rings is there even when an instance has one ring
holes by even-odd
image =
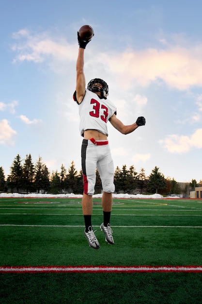
[[[186,153],[192,148],[202,148],[202,129],[196,130],[196,132],[189,136],[184,135],[169,135],[167,138],[160,140],[160,144],[163,144],[168,152],[171,153]]]

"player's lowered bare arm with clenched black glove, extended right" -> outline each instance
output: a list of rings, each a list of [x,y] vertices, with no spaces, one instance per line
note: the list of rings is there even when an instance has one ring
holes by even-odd
[[[116,117],[115,114],[112,115],[111,118],[109,118],[109,121],[112,124],[112,126],[122,134],[129,134],[135,131],[138,127],[144,126],[146,123],[145,118],[141,116],[133,124],[125,126],[123,122]]]

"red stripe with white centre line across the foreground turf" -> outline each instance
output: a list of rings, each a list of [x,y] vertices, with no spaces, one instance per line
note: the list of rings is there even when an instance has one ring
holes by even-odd
[[[40,272],[202,272],[202,266],[5,266],[0,273]]]

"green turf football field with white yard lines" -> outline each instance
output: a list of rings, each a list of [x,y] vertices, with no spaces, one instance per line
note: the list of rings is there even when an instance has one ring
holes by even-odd
[[[93,228],[100,249],[83,235],[81,199],[1,198],[3,267],[202,267],[202,201],[114,199],[114,245]],[[0,271],[0,303],[202,303],[202,272]]]

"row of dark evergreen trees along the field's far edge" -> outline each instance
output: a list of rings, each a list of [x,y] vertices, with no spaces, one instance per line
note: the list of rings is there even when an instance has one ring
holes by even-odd
[[[115,169],[114,184],[116,193],[184,194],[184,196],[187,196],[189,191],[197,186],[196,180],[192,180],[190,184],[182,187],[174,178],[165,178],[157,167],[147,177],[143,168],[138,173],[134,166],[127,169],[126,165],[122,169],[119,167]],[[202,185],[202,181],[199,185]],[[24,162],[17,154],[7,179],[5,179],[3,168],[0,167],[0,191],[81,194],[83,192],[82,170],[78,172],[72,161],[68,170],[62,165],[60,172],[56,170],[50,175],[40,156],[34,165],[31,154],[26,155]],[[101,193],[101,191],[102,184],[99,173],[96,171],[95,193]]]

